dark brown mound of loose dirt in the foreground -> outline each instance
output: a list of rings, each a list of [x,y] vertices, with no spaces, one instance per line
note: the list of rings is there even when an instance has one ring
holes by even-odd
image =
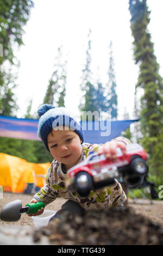
[[[163,245],[163,229],[150,219],[125,210],[64,212],[47,227],[36,230],[34,241],[47,236],[52,245]]]

